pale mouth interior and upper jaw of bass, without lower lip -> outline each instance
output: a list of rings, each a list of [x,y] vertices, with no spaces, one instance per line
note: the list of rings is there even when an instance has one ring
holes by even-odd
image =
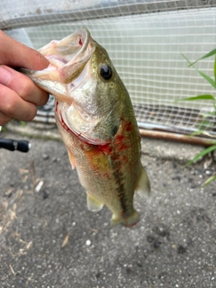
[[[52,40],[39,49],[39,52],[50,62],[43,74],[49,73],[51,80],[67,84],[76,79],[84,69],[94,52],[94,43],[89,31],[83,28],[63,40]],[[50,70],[53,72],[50,73]]]

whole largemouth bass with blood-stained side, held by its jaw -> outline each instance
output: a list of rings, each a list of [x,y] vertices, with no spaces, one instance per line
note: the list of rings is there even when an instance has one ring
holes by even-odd
[[[105,49],[85,28],[39,49],[42,71],[22,72],[53,94],[58,130],[72,168],[87,193],[87,206],[112,211],[111,225],[139,221],[134,192],[150,193],[140,162],[140,137],[130,96]]]

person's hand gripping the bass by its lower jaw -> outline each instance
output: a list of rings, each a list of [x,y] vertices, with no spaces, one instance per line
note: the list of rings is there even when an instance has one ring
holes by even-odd
[[[37,106],[47,103],[49,94],[12,67],[42,70],[49,66],[49,61],[3,31],[0,31],[0,43],[0,125],[12,119],[31,121]]]

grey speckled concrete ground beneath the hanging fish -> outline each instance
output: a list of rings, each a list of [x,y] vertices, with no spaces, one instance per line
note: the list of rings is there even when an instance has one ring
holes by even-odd
[[[10,125],[2,137],[31,150],[0,149],[0,287],[216,287],[216,185],[200,187],[216,168],[184,166],[201,147],[142,139],[151,201],[135,195],[139,223],[110,229],[108,209],[87,210],[57,131]]]

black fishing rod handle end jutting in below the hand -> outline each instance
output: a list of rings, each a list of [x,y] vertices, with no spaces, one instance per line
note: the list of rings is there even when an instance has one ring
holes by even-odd
[[[0,139],[0,148],[4,148],[10,151],[28,152],[31,148],[31,143],[26,140],[14,140],[14,139]]]

